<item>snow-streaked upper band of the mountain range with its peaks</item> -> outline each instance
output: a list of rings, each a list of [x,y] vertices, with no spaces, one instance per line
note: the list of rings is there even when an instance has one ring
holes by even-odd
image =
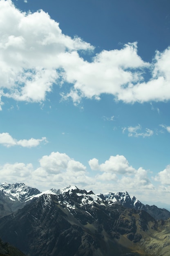
[[[50,205],[55,197],[61,207],[67,208],[72,214],[76,213],[78,209],[94,209],[98,205],[114,206],[121,204],[126,208],[133,208],[136,210],[144,210],[150,213],[154,218],[169,218],[170,212],[159,209],[156,206],[149,206],[142,204],[134,196],[130,196],[127,191],[117,193],[94,194],[93,191],[86,191],[85,189],[78,189],[77,186],[67,186],[63,189],[50,189],[40,192],[38,189],[26,186],[24,183],[2,183],[0,184],[0,218],[9,215],[22,209],[26,204],[38,200],[44,207]],[[87,211],[89,214],[89,211]],[[91,213],[90,213],[91,214]]]

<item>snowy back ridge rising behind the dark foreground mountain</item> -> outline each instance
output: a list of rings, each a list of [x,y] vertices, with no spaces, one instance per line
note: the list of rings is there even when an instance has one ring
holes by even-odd
[[[32,200],[34,197],[39,197],[43,194],[60,195],[66,192],[72,193],[72,191],[76,191],[76,193],[82,195],[84,194],[86,196],[91,195],[93,200],[97,200],[98,202],[103,200],[107,202],[108,205],[121,204],[124,207],[133,208],[136,210],[144,210],[155,219],[166,220],[170,218],[170,211],[164,208],[158,208],[155,205],[145,205],[137,200],[134,195],[130,196],[127,191],[121,191],[117,193],[108,192],[95,195],[93,191],[87,192],[85,189],[78,189],[78,187],[75,185],[69,185],[63,189],[49,189],[47,191],[40,192],[38,189],[27,186],[22,182],[13,184],[0,184],[0,218],[12,213],[13,211],[22,209],[22,207],[29,203],[29,200]]]

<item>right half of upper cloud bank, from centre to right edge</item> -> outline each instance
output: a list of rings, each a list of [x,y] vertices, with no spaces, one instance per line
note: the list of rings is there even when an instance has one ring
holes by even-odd
[[[81,60],[74,70],[67,65],[66,79],[74,83],[74,88],[66,97],[74,95],[75,102],[76,94],[79,102],[81,97],[100,99],[102,93],[107,93],[125,103],[169,100],[169,56],[170,48],[157,52],[149,65],[138,56],[136,43],[131,43],[121,50],[97,54],[92,63]],[[152,71],[148,82],[142,81],[144,68],[145,72]]]

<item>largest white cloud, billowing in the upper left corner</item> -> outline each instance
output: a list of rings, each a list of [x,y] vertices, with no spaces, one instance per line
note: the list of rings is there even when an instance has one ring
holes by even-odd
[[[21,12],[11,0],[0,1],[1,95],[19,101],[42,101],[59,78],[60,54],[93,50],[81,38],[62,34],[44,11]]]

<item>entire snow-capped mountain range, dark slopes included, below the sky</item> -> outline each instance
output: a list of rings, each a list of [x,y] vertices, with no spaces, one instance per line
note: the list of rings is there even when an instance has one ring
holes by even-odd
[[[4,183],[0,217],[2,240],[27,256],[170,255],[170,212],[127,192],[95,195],[68,186],[41,193]]]

